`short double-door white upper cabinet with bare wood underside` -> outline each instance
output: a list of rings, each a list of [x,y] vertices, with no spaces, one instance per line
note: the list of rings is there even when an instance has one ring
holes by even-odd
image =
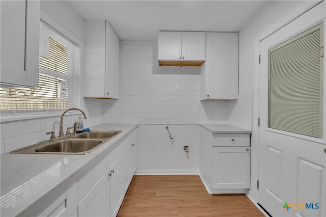
[[[205,62],[206,33],[158,32],[160,66],[201,66]]]

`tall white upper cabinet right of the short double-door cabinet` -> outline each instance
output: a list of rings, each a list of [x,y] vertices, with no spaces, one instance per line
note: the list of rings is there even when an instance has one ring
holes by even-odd
[[[201,67],[201,100],[238,98],[238,33],[207,33]]]

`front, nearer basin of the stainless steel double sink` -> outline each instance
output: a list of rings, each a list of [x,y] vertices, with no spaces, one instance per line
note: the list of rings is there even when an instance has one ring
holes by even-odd
[[[102,140],[70,139],[52,142],[35,149],[36,152],[78,153],[87,152],[101,144]]]

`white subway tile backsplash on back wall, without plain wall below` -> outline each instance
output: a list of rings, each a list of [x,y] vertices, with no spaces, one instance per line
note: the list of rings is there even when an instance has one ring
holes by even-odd
[[[103,123],[228,123],[233,111],[229,102],[200,101],[199,68],[158,67],[157,41],[120,42],[119,94],[103,101]]]

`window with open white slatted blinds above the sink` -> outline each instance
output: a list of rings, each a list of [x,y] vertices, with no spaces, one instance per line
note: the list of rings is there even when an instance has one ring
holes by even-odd
[[[40,23],[39,86],[0,89],[0,110],[58,110],[75,105],[80,50]]]

